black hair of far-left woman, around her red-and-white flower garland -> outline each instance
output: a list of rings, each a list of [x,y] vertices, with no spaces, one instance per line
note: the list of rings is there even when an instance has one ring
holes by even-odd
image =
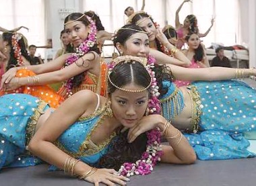
[[[15,55],[14,55],[13,46],[11,44],[13,34],[15,34],[15,33],[3,32],[3,34],[1,35],[3,40],[7,41],[8,45],[11,48],[10,58],[9,58],[7,66],[6,66],[6,71],[8,71],[9,68],[13,68],[18,65],[17,58],[15,58]],[[22,56],[24,56],[24,58],[26,58],[26,60],[30,61],[30,57],[28,56],[28,51],[26,50],[26,46],[27,46],[26,38],[24,38],[24,36],[22,36],[21,34],[20,34],[20,36],[21,36],[21,39],[18,41],[18,45],[20,46],[20,50],[21,50],[20,52],[22,53]]]

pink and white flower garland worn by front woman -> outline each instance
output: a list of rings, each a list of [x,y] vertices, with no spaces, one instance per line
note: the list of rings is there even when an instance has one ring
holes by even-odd
[[[160,101],[158,100],[158,96],[160,93],[158,92],[159,87],[157,86],[157,81],[155,77],[155,72],[152,71],[154,68],[154,63],[156,59],[153,56],[148,56],[148,63],[146,65],[146,69],[152,78],[151,83],[151,97],[148,102],[148,108],[150,109],[150,114],[160,113]],[[109,73],[115,67],[115,63],[111,62],[108,66]],[[162,148],[160,146],[160,138],[161,132],[159,128],[150,130],[146,132],[146,136],[148,138],[146,152],[143,152],[141,155],[141,159],[134,162],[125,162],[118,171],[118,175],[123,175],[126,177],[130,177],[132,175],[148,175],[153,171],[154,165],[158,161],[160,161],[160,156],[162,156]]]

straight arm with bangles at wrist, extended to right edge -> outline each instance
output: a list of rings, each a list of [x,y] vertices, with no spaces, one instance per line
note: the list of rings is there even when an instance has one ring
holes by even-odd
[[[243,79],[249,76],[256,76],[256,68],[184,68],[172,64],[170,66],[172,74],[176,79],[185,81],[218,81],[226,79]]]

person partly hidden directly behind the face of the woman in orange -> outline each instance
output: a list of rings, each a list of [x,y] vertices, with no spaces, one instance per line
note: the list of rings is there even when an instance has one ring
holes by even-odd
[[[65,32],[65,30],[61,31],[60,39],[61,39],[61,48],[57,50],[57,53],[54,59],[58,58],[63,54],[74,52],[73,46],[69,40],[69,35]]]

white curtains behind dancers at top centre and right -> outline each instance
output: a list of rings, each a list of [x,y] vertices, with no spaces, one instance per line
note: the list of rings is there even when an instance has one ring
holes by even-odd
[[[242,44],[240,24],[239,0],[193,0],[193,3],[185,3],[179,13],[180,21],[183,23],[189,14],[195,14],[198,19],[199,31],[205,33],[211,26],[211,19],[215,17],[214,27],[210,33],[202,38],[205,46],[212,42],[220,42],[225,46]],[[247,1],[247,0],[243,0]],[[154,21],[164,27],[165,24],[174,26],[175,12],[183,0],[146,0],[145,11]],[[135,11],[140,10],[141,0],[85,0],[84,9],[94,10],[100,15],[105,30],[114,32],[125,23],[127,17],[124,15],[126,7],[131,6]]]

